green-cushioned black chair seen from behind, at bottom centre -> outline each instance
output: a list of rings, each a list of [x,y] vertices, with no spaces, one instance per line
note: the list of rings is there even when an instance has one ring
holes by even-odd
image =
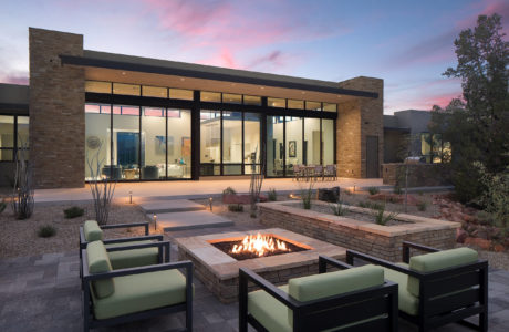
[[[326,266],[343,271],[326,272]],[[346,270],[344,270],[346,269]],[[247,268],[239,270],[239,331],[396,331],[397,286],[380,267],[353,268],[319,257],[319,274],[276,287]],[[248,292],[248,282],[261,290]]]

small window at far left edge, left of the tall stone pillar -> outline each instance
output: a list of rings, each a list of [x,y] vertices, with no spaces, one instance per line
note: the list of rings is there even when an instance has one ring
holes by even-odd
[[[29,158],[29,117],[0,115],[0,162],[12,162],[24,148],[24,159]]]

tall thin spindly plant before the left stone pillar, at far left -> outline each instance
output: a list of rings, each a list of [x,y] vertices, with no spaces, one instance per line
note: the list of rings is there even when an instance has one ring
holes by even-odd
[[[33,212],[32,167],[27,159],[28,144],[20,141],[14,164],[14,187],[11,196],[11,208],[18,219],[27,219]]]

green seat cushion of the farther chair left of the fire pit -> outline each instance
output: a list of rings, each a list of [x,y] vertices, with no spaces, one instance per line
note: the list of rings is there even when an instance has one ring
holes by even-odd
[[[152,243],[150,240],[129,241],[122,243],[108,243],[106,248],[125,247],[131,245]],[[121,251],[108,251],[107,256],[114,270],[135,267],[152,266],[158,263],[159,250],[157,247],[131,249]]]

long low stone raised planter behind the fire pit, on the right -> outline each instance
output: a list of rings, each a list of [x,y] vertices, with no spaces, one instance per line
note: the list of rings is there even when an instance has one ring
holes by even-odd
[[[455,245],[459,222],[436,220],[399,214],[395,226],[382,226],[352,218],[304,210],[301,203],[274,201],[259,204],[260,222],[280,227],[347,249],[359,250],[389,261],[401,261],[402,242],[412,241],[439,249]],[[313,201],[314,205],[326,203]],[[356,214],[371,214],[371,209],[354,206],[345,208]]]

